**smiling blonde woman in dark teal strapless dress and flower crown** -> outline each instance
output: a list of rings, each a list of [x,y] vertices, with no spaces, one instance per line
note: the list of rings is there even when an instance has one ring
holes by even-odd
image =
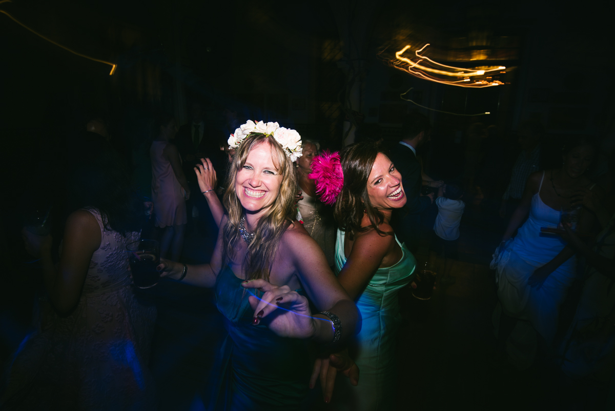
[[[228,215],[211,263],[162,260],[159,269],[213,287],[226,317],[210,409],[289,410],[307,394],[307,341],[339,345],[354,333],[357,308],[294,219],[299,135],[248,121],[229,144],[237,152],[224,193]],[[323,313],[312,314],[310,301]]]

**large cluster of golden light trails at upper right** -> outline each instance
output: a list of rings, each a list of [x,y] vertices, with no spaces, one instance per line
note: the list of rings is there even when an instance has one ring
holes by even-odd
[[[403,49],[396,52],[395,59],[389,60],[388,63],[389,65],[410,73],[415,77],[435,81],[441,84],[450,84],[451,86],[474,87],[480,89],[483,87],[493,87],[504,84],[499,80],[492,79],[489,75],[492,71],[498,71],[501,73],[500,70],[506,69],[504,66],[487,66],[478,68],[447,66],[434,62],[431,58],[422,55],[421,52],[423,52],[427,46],[429,46],[429,43],[421,47],[421,49],[416,49],[416,58],[413,57],[415,60],[411,60],[411,58],[402,56],[408,49],[411,48],[410,44],[408,44],[403,47]]]

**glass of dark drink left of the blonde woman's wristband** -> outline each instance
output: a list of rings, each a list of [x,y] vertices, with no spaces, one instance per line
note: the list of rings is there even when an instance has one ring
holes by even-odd
[[[155,240],[139,240],[126,245],[128,261],[132,271],[132,281],[140,289],[148,289],[158,284],[160,273],[160,249]]]

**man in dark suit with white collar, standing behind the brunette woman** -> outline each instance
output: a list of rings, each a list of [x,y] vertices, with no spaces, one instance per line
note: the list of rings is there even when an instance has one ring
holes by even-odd
[[[421,196],[421,164],[416,159],[416,149],[429,141],[431,125],[423,114],[405,117],[401,139],[391,147],[391,161],[402,175],[403,191],[407,202],[401,209],[393,210],[391,226],[399,241],[405,242],[411,252],[416,252],[421,233],[421,213],[434,201],[434,194]]]

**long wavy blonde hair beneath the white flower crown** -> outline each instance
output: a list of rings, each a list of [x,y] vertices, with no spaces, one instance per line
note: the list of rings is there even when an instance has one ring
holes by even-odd
[[[228,210],[229,218],[223,227],[223,256],[222,260],[228,264],[237,262],[237,249],[240,241],[244,241],[239,233],[239,221],[244,216],[237,193],[235,180],[237,172],[244,167],[248,154],[258,145],[267,144],[271,148],[271,159],[277,172],[282,175],[280,193],[263,217],[258,221],[254,239],[248,244],[248,252],[243,258],[242,266],[247,273],[246,279],[264,279],[269,281],[269,274],[273,261],[276,258],[277,247],[282,235],[288,226],[295,220],[295,196],[297,178],[293,162],[285,154],[280,143],[273,137],[264,134],[252,133],[245,138],[237,148],[233,162],[226,177],[226,191],[224,192],[224,206]]]

